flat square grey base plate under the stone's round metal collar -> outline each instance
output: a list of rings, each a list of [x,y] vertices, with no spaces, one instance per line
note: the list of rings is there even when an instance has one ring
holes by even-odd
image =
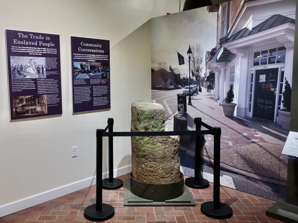
[[[130,179],[125,180],[124,206],[195,206],[195,202],[184,185],[184,192],[180,197],[166,201],[153,201],[136,196],[130,191]]]

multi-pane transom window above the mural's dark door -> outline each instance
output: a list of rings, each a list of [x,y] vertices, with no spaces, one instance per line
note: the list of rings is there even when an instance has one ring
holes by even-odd
[[[254,52],[254,65],[267,65],[273,63],[285,63],[285,47],[277,47]]]

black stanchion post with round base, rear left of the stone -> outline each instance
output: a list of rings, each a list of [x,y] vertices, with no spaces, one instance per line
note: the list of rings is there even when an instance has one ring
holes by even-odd
[[[114,119],[108,118],[108,130],[113,132]],[[103,189],[116,190],[123,186],[123,181],[114,178],[113,136],[108,137],[109,147],[109,178],[103,179]]]

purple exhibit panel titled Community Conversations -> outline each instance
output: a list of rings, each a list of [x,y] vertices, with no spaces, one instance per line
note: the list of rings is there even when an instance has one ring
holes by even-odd
[[[71,37],[73,113],[111,108],[110,41]]]

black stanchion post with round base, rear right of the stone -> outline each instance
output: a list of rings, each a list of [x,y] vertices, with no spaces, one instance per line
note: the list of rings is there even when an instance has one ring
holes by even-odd
[[[195,130],[201,131],[202,118],[195,118]],[[201,135],[195,136],[195,177],[185,180],[185,185],[190,188],[204,189],[209,187],[209,181],[202,178],[203,158],[201,154]]]

